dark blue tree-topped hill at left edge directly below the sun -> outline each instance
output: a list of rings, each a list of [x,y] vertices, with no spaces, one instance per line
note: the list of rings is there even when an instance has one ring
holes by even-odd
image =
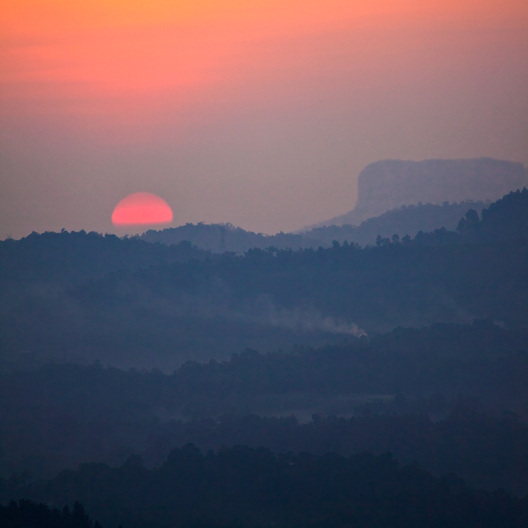
[[[25,296],[56,294],[118,270],[207,256],[208,251],[189,242],[168,247],[96,232],[33,232],[20,240],[6,239],[0,241],[0,310]]]

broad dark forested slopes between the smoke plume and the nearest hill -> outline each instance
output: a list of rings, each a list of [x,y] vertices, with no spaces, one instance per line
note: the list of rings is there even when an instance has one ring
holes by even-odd
[[[528,427],[513,413],[528,418],[527,350],[526,332],[481,321],[318,349],[248,350],[222,363],[187,362],[172,375],[97,364],[13,372],[0,378],[0,476],[49,478],[87,461],[120,465],[132,453],[152,467],[194,442],[388,450],[471,486],[526,494]],[[315,414],[351,419],[301,425],[292,416]]]

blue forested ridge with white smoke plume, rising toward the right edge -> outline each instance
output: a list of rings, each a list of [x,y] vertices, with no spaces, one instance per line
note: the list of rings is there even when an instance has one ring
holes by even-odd
[[[225,253],[27,298],[0,317],[2,359],[9,363],[24,351],[172,370],[187,359],[225,358],[247,347],[318,346],[397,326],[489,319],[524,327],[527,197],[528,191],[507,195],[482,220],[468,213],[458,232],[379,237],[365,249]]]

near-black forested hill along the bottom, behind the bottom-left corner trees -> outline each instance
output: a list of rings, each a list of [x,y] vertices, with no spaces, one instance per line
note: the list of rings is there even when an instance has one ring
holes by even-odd
[[[6,487],[6,486],[5,486]],[[5,489],[4,496],[13,492]],[[84,464],[24,494],[51,504],[81,500],[103,525],[126,528],[521,528],[527,499],[468,489],[391,455],[344,458],[234,446],[203,455],[192,444],[147,470]]]

